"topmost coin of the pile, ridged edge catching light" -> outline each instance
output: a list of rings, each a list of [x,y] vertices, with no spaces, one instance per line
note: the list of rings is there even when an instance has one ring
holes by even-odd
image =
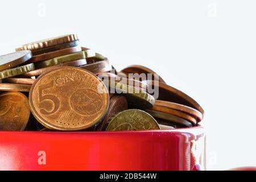
[[[78,40],[76,34],[57,36],[55,38],[49,38],[49,39],[39,40],[37,42],[24,44],[23,46],[16,48],[16,51],[22,51],[22,50],[34,51],[34,50],[38,50],[46,47],[56,46],[58,44],[72,42],[74,40]]]

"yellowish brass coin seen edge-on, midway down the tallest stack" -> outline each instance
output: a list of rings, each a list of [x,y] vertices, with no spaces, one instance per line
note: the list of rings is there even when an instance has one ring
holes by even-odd
[[[64,55],[60,57],[54,57],[53,59],[35,63],[35,68],[36,69],[46,68],[46,67],[51,67],[53,65],[64,64],[64,63],[68,63],[75,60],[86,59],[87,57],[92,56],[91,54],[95,55],[95,52],[90,52],[88,50],[88,51],[71,53],[69,55]]]

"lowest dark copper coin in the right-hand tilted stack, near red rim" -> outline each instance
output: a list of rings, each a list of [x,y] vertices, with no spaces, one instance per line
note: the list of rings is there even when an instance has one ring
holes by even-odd
[[[162,113],[159,111],[155,111],[155,110],[145,110],[148,114],[152,115],[152,117],[154,117],[158,122],[159,119],[163,119],[164,121],[166,121],[167,123],[162,123],[159,122],[160,124],[164,124],[164,125],[168,125],[168,123],[175,123],[175,125],[180,125],[180,126],[184,126],[184,127],[192,127],[192,123],[188,122],[187,120],[180,118],[180,117],[176,117],[175,115],[171,115],[171,114],[166,114],[166,113]]]

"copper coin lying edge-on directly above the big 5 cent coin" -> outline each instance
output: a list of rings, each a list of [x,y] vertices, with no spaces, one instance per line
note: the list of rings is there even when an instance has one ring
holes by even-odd
[[[68,63],[64,63],[64,64],[58,64],[58,65],[54,65],[52,67],[46,67],[46,68],[40,68],[40,69],[35,69],[34,71],[31,72],[27,72],[22,74],[22,77],[32,77],[32,76],[39,76],[41,74],[43,74],[44,72],[47,72],[53,68],[59,68],[59,67],[80,67],[82,65],[85,65],[87,62],[85,59],[80,59],[80,60],[76,60],[76,61],[71,61]]]

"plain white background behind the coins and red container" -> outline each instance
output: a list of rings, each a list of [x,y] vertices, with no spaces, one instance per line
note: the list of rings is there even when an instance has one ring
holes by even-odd
[[[76,33],[115,68],[142,64],[205,109],[208,169],[256,166],[256,3],[1,1],[0,54]]]

